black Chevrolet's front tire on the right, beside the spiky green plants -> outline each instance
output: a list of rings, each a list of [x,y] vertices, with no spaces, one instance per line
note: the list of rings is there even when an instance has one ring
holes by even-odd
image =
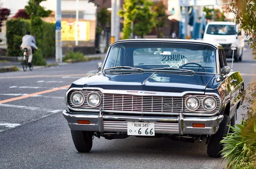
[[[207,154],[212,158],[220,158],[220,151],[223,149],[224,144],[220,144],[222,138],[229,132],[229,128],[227,125],[230,124],[230,117],[228,115],[224,115],[223,120],[221,121],[220,128],[218,131],[211,135],[209,143],[207,145]]]

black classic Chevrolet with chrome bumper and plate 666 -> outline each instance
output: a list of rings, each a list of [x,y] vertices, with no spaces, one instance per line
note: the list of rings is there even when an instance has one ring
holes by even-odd
[[[244,81],[214,42],[128,39],[114,42],[98,72],[72,83],[63,111],[78,152],[93,138],[166,137],[206,141],[209,157],[236,124]]]

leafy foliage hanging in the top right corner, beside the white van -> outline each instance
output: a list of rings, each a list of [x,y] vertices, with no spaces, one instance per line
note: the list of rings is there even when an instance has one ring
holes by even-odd
[[[256,55],[256,0],[232,0],[229,11],[235,14],[236,24],[250,37],[248,45]]]

